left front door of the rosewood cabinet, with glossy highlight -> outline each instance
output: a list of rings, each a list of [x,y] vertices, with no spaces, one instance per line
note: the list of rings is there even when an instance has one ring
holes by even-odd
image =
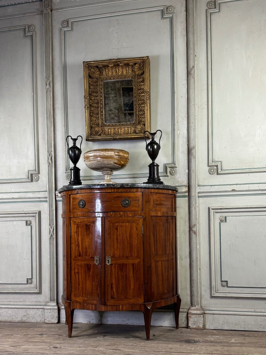
[[[71,299],[100,304],[100,295],[101,218],[71,218]]]

